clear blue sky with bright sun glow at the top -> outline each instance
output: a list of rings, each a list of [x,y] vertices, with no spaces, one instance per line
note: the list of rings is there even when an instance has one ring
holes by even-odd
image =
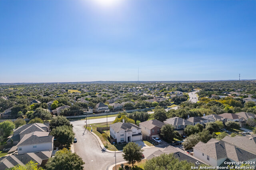
[[[0,83],[256,79],[255,64],[256,1],[0,1]]]

